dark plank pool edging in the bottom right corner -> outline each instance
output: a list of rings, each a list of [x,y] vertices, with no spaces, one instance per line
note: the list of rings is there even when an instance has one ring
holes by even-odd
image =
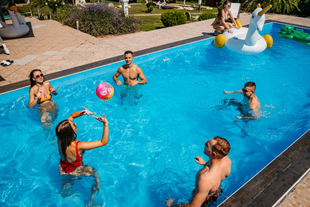
[[[250,180],[248,180],[245,184],[243,184],[240,188],[238,188],[234,193],[232,193],[231,195],[229,195],[225,200],[223,200],[220,204],[218,204],[218,207],[223,207],[223,206],[240,206],[240,203],[236,203],[236,201],[240,201],[240,199],[235,199],[233,198],[236,194],[243,194],[243,196],[239,196],[239,197],[246,197],[245,195],[247,194],[247,190],[245,189],[245,187],[247,185],[255,185],[255,183],[259,183],[261,182],[261,179],[257,179],[259,176],[262,176],[262,174],[264,173],[264,170],[266,170],[266,168],[270,167],[272,164],[279,162],[280,156],[285,156],[288,159],[291,159],[291,157],[288,157],[286,155],[284,155],[284,153],[286,151],[292,150],[293,147],[296,147],[298,144],[301,145],[300,143],[297,144],[297,142],[299,142],[301,139],[305,139],[306,140],[306,136],[310,136],[310,129],[308,129],[306,132],[304,132],[296,141],[294,141],[290,146],[288,146],[285,150],[283,150],[277,157],[275,157],[272,161],[270,161],[267,165],[265,165],[261,170],[259,170],[257,172],[257,174],[255,174]],[[302,142],[302,141],[301,141]],[[307,145],[308,146],[308,145]],[[306,147],[307,149],[304,150],[305,151],[309,151],[310,147]],[[299,148],[297,147],[296,150],[298,150]],[[301,154],[302,156],[302,154]],[[298,158],[300,158],[301,156],[299,156]],[[296,161],[296,160],[294,160]],[[286,168],[289,168],[291,166],[292,163],[290,163]],[[283,170],[284,171],[284,170]],[[291,170],[291,172],[293,173],[294,170]],[[308,174],[308,172],[310,171],[310,167],[307,166],[306,170],[304,170],[301,174],[300,177],[298,177],[297,179],[295,179],[293,181],[293,184],[289,186],[289,188],[287,188],[286,190],[284,190],[284,193],[281,194],[280,196],[276,197],[274,196],[274,200],[275,202],[273,203],[269,203],[269,206],[275,207],[278,206],[283,200],[285,200],[285,198],[291,193],[291,191],[296,187],[296,185],[298,185],[303,178]],[[297,174],[299,174],[298,172],[296,172]],[[280,177],[281,175],[279,175]],[[289,176],[291,178],[293,178],[292,176]],[[257,181],[254,181],[254,179],[257,179]],[[275,182],[276,179],[274,179],[272,182]],[[292,180],[292,179],[291,179]],[[270,182],[270,183],[272,183]],[[254,183],[254,184],[253,184]],[[270,185],[270,183],[268,183],[268,185],[265,187],[265,189]],[[263,193],[263,190],[261,190],[259,192],[259,194]],[[266,193],[266,192],[264,192]],[[259,195],[258,194],[258,195]],[[269,192],[269,194],[271,195],[272,192]],[[256,195],[255,197],[257,197],[258,195]],[[238,196],[238,195],[237,195]],[[237,197],[236,196],[236,197]],[[255,202],[255,197],[253,199],[251,199],[250,202],[246,203],[245,205],[242,206],[265,206],[264,204],[260,204],[259,202]],[[276,198],[275,198],[276,197]],[[242,202],[242,201],[241,201]],[[253,202],[253,203],[252,203]],[[235,204],[231,204],[231,203],[235,203]],[[242,202],[243,203],[243,202]]]

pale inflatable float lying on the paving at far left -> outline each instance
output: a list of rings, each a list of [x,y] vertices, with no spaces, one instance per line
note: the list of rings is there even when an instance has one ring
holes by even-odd
[[[24,17],[18,12],[8,10],[12,17],[12,24],[6,24],[1,21],[0,36],[2,38],[19,38],[29,32],[29,27],[26,25]]]

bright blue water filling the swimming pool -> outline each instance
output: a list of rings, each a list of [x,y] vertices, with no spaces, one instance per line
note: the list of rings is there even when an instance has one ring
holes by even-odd
[[[204,142],[215,135],[229,141],[232,160],[219,204],[310,128],[310,48],[279,38],[280,26],[264,26],[262,34],[271,34],[274,46],[257,55],[216,49],[209,39],[136,57],[147,84],[129,90],[123,105],[124,88],[112,76],[124,62],[51,81],[59,92],[52,98],[59,112],[47,129],[37,106],[27,107],[29,88],[0,95],[0,206],[87,204],[92,178],[75,180],[68,197],[60,194],[55,135],[56,125],[82,106],[109,121],[108,145],[84,155],[100,179],[95,206],[164,206],[168,197],[188,201],[201,168],[194,157],[207,160]],[[235,118],[240,112],[227,101],[243,96],[222,92],[248,81],[257,86],[259,120]],[[101,82],[114,86],[110,100],[97,98]],[[75,123],[79,141],[101,138],[102,123],[91,116]]]

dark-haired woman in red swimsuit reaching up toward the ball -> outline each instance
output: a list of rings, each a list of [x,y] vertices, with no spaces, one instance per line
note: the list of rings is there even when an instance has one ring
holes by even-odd
[[[56,127],[58,152],[60,155],[59,172],[60,175],[70,175],[70,176],[91,176],[95,178],[95,184],[92,186],[92,196],[91,201],[94,198],[95,192],[99,191],[99,180],[98,175],[94,167],[87,166],[83,163],[83,154],[86,150],[91,150],[94,148],[102,147],[108,143],[109,128],[108,121],[103,115],[95,117],[95,119],[103,123],[103,134],[100,141],[94,142],[79,142],[76,140],[76,131],[78,127],[73,122],[77,117],[83,115],[92,115],[95,113],[90,112],[88,109],[83,107],[85,110],[74,112],[66,120],[60,122]],[[76,178],[72,178],[76,179]],[[70,188],[70,183],[63,184],[63,188]]]

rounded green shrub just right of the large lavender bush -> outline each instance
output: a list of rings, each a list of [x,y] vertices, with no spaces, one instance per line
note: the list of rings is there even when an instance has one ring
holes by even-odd
[[[184,12],[179,10],[168,10],[162,14],[161,20],[163,24],[168,26],[175,26],[186,23],[186,15]]]

